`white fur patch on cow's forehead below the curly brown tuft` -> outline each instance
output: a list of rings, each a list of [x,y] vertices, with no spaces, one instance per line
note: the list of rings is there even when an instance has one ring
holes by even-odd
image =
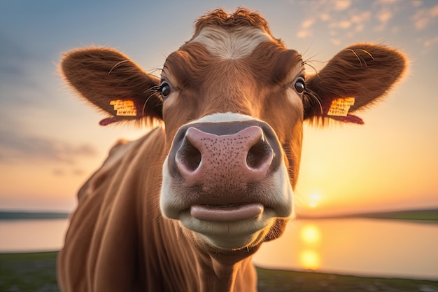
[[[205,27],[190,42],[202,43],[212,55],[224,59],[247,57],[263,41],[274,41],[264,30],[256,27],[223,29]]]

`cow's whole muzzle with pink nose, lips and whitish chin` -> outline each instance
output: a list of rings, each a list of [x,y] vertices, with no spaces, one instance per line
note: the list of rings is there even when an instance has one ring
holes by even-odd
[[[217,113],[183,125],[163,167],[162,214],[226,249],[256,241],[272,218],[292,213],[281,143],[267,123],[249,118]]]

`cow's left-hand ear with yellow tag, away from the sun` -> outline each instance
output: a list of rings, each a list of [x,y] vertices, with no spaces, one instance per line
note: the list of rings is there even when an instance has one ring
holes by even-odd
[[[162,120],[160,80],[116,50],[86,48],[66,53],[62,74],[94,106],[108,113],[101,125],[123,120]]]

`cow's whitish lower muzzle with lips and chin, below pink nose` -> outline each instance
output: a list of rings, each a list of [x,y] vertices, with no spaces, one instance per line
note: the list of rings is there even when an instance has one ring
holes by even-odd
[[[166,169],[166,168],[164,168]],[[218,195],[219,196],[219,195]],[[160,207],[165,218],[174,219],[192,232],[198,241],[216,249],[247,249],[278,234],[277,219],[293,216],[293,191],[284,165],[260,184],[259,202],[206,204],[189,200],[190,193],[164,171]],[[216,203],[216,204],[215,204]],[[271,232],[271,230],[276,230]]]

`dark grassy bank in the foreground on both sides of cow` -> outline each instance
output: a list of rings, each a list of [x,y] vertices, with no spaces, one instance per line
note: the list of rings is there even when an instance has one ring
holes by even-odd
[[[0,253],[1,292],[55,292],[57,252]],[[438,291],[438,281],[354,277],[257,267],[259,292]],[[243,291],[244,292],[244,291]]]

